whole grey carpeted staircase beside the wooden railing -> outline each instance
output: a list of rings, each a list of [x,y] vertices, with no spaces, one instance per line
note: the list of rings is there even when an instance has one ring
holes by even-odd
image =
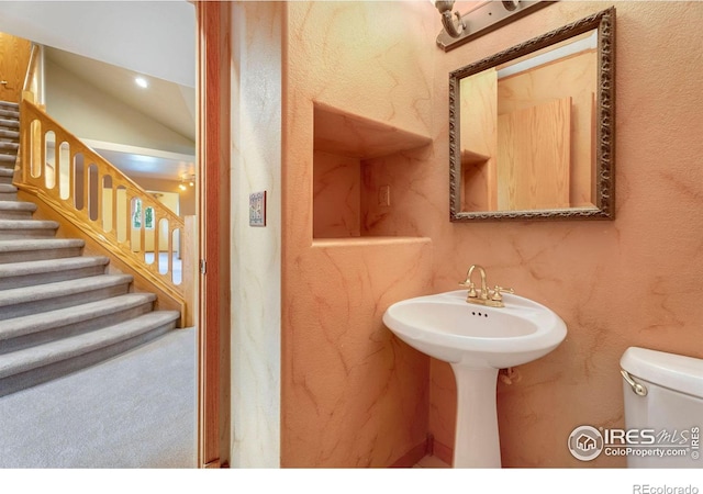
[[[12,184],[19,106],[0,102],[0,396],[114,357],[177,327],[132,277],[82,256],[83,240],[56,238]]]

